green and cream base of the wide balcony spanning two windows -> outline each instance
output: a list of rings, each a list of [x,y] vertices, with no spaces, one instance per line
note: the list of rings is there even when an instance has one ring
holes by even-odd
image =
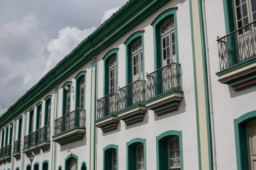
[[[52,141],[57,142],[58,144],[63,146],[73,142],[81,141],[84,137],[85,132],[85,127],[75,127],[58,135],[52,136]]]

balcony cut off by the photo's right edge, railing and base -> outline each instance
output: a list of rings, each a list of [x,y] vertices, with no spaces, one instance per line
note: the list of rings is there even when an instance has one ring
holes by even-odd
[[[217,40],[218,81],[235,91],[256,86],[256,21]]]

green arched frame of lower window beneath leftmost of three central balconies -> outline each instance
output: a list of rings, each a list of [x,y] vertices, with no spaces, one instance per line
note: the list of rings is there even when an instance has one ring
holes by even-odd
[[[116,170],[118,170],[118,145],[109,144],[103,148],[103,170],[113,170],[112,153],[116,151]]]

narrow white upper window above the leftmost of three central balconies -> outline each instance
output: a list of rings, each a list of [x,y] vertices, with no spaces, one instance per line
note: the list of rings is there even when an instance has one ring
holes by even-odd
[[[116,93],[117,69],[116,55],[109,61],[109,93]]]

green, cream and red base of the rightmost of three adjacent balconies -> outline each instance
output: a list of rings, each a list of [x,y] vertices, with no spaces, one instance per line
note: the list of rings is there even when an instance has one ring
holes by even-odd
[[[145,108],[153,110],[157,116],[163,116],[178,110],[183,100],[183,91],[172,90],[145,101]]]

